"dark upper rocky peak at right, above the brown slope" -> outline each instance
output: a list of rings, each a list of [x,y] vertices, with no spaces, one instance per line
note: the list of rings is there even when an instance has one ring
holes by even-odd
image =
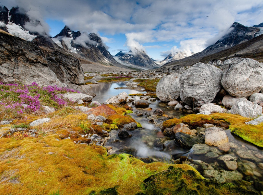
[[[179,60],[171,60],[163,66],[171,65],[193,65],[201,62],[206,56],[210,56],[220,51],[230,49],[236,45],[245,43],[262,33],[258,27],[246,27],[240,23],[234,22],[226,35],[221,37],[215,44],[210,45],[203,51]]]

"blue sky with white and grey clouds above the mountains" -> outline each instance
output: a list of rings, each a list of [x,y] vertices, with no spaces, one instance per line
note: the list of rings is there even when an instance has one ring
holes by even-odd
[[[112,55],[136,48],[156,60],[202,51],[234,22],[263,22],[259,0],[2,0],[1,5],[23,7],[52,36],[67,25],[98,33]]]

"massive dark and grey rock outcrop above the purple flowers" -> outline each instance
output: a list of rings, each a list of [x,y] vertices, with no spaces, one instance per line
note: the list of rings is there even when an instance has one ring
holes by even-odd
[[[61,82],[83,83],[84,72],[74,57],[60,52],[46,57],[38,45],[1,31],[0,81],[63,86]]]

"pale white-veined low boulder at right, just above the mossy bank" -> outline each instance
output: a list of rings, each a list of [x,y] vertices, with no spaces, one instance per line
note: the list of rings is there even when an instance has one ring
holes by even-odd
[[[228,110],[228,113],[254,118],[262,114],[262,107],[246,99],[240,99],[234,103],[231,110]]]

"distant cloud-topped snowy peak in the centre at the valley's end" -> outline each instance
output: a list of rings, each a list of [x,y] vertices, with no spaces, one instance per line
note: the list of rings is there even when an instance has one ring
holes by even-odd
[[[159,65],[155,63],[144,51],[135,49],[136,53],[129,51],[123,53],[120,51],[115,55],[117,61],[121,61],[129,66],[135,66],[142,69],[154,69],[159,68]]]

